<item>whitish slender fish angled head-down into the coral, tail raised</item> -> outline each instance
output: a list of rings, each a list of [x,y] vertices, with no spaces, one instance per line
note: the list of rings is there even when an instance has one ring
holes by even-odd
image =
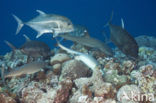
[[[97,60],[94,59],[91,55],[88,55],[88,54],[85,54],[85,53],[81,53],[81,52],[77,52],[77,51],[74,51],[72,49],[69,49],[69,48],[63,46],[62,44],[60,44],[58,41],[57,41],[57,44],[58,44],[58,46],[61,49],[65,50],[67,53],[73,54],[75,60],[83,62],[89,68],[91,68],[93,71],[98,66]]]

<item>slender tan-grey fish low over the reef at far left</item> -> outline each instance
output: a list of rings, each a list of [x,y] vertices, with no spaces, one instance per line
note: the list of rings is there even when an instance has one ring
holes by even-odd
[[[10,78],[10,77],[17,77],[21,76],[23,74],[34,74],[36,72],[39,72],[41,69],[43,69],[46,66],[45,62],[32,62],[28,64],[24,64],[21,67],[13,69],[11,72],[8,74],[5,74],[5,78]]]

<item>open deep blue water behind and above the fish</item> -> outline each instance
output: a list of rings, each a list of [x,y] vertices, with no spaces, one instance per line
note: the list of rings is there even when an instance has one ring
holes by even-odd
[[[0,54],[10,51],[4,40],[20,47],[25,42],[23,34],[35,39],[37,32],[27,26],[15,35],[17,23],[12,14],[26,22],[38,15],[37,9],[64,15],[74,24],[85,25],[91,36],[101,40],[101,32],[108,30],[103,26],[109,20],[112,10],[112,23],[121,25],[122,17],[126,30],[134,37],[143,34],[156,36],[156,0],[0,0]],[[54,48],[55,41],[51,40],[50,34],[39,40]]]

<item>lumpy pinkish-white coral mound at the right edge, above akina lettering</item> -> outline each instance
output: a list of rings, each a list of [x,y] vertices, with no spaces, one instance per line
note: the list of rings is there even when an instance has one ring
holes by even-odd
[[[133,70],[131,77],[141,89],[143,94],[152,94],[156,98],[156,70],[152,65],[141,66],[139,70]]]

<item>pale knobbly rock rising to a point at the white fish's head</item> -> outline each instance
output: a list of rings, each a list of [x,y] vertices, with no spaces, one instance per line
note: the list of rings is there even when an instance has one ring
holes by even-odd
[[[75,85],[79,90],[83,89],[84,86],[88,86],[93,94],[97,97],[103,98],[114,98],[116,89],[112,86],[111,83],[103,81],[102,72],[99,68],[95,68],[92,77],[89,78],[79,78],[74,80]]]

